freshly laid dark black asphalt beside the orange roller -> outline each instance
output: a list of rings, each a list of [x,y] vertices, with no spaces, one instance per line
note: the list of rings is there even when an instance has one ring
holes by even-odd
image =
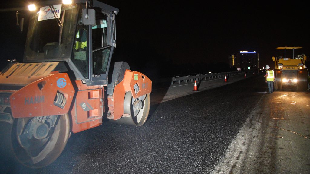
[[[219,173],[223,170],[216,165],[266,89],[264,79],[254,76],[155,104],[141,127],[105,122],[72,134],[64,152],[47,167],[5,164],[2,173]]]

